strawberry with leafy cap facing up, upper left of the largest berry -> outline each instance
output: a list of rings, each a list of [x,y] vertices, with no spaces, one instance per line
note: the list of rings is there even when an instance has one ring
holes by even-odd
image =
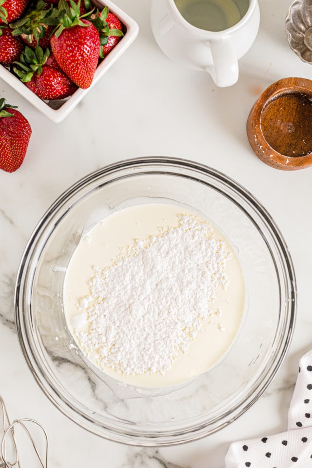
[[[20,20],[10,24],[14,36],[20,36],[30,47],[48,47],[54,27],[59,23],[58,8],[39,0],[35,9],[30,9]]]

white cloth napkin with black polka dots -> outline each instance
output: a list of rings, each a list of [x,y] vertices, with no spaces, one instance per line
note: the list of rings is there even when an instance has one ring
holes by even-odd
[[[230,445],[226,468],[312,467],[312,351],[299,361],[299,373],[288,412],[288,430]]]

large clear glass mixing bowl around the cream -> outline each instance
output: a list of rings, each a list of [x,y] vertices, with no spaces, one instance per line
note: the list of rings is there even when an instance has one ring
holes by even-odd
[[[212,220],[239,257],[247,291],[244,321],[222,361],[161,390],[121,385],[94,368],[63,312],[66,268],[81,236],[107,209],[151,201],[187,205]],[[157,157],[110,165],[61,195],[25,249],[15,299],[25,359],[56,407],[99,436],[155,447],[224,428],[266,390],[291,341],[296,285],[285,241],[253,195],[209,167]]]

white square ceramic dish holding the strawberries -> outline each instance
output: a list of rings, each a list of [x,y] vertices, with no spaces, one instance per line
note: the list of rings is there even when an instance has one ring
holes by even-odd
[[[77,106],[78,102],[87,94],[89,89],[96,84],[107,70],[113,65],[114,62],[125,52],[130,44],[136,39],[138,34],[137,23],[130,18],[125,12],[118,8],[110,0],[92,0],[93,3],[102,9],[104,6],[108,6],[109,11],[119,18],[119,20],[125,26],[126,32],[121,40],[117,43],[114,49],[102,60],[96,70],[95,76],[91,86],[87,89],[78,88],[75,93],[67,99],[62,101],[43,101],[36,96],[30,89],[28,89],[18,77],[11,73],[7,68],[0,65],[0,78],[6,81],[12,88],[20,93],[25,99],[27,99],[33,106],[35,106],[42,114],[53,120],[55,123],[61,122],[68,114]]]

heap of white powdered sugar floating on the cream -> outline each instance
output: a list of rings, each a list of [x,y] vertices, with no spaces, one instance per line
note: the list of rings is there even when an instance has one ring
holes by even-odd
[[[229,281],[229,258],[208,223],[181,215],[178,227],[138,240],[104,270],[95,267],[80,302],[88,329],[74,331],[82,352],[125,375],[166,372],[212,313]]]

